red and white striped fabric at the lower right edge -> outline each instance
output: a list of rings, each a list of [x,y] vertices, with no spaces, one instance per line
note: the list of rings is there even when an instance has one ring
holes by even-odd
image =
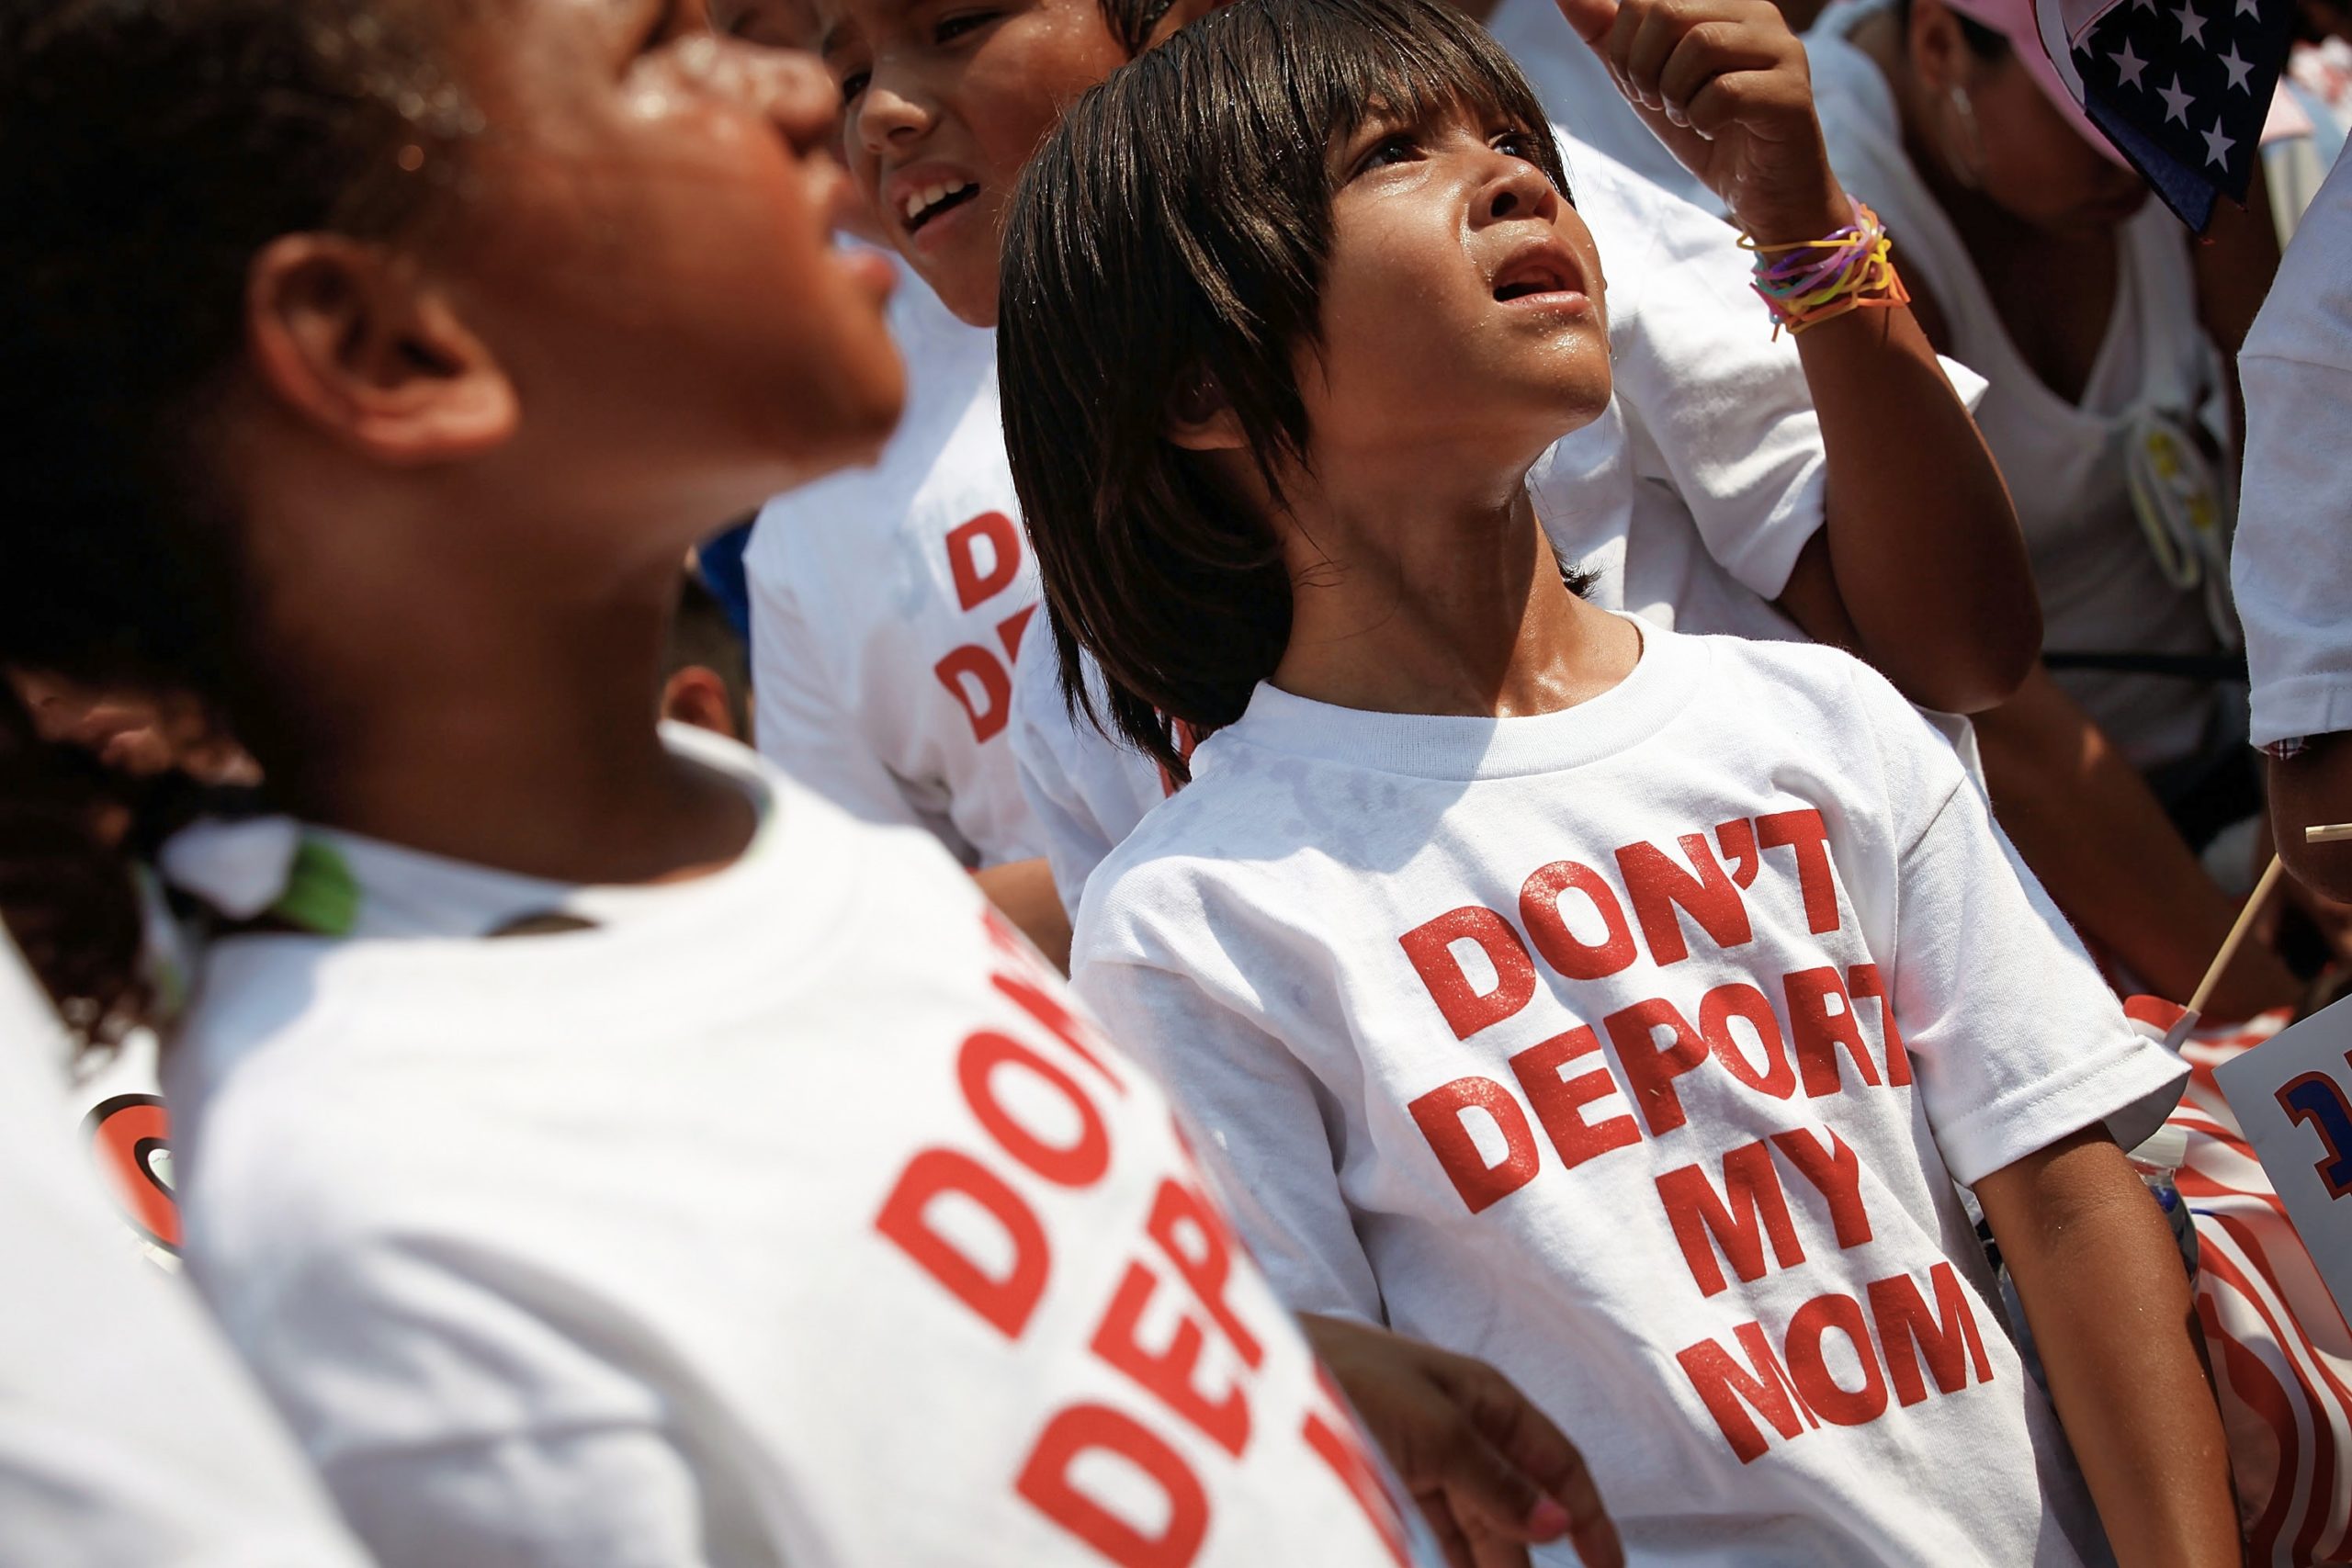
[[[2183,1013],[2133,997],[2136,1023]],[[2197,1220],[2197,1314],[2213,1352],[2246,1561],[2352,1563],[2352,1328],[2286,1222],[2213,1067],[2288,1025],[2286,1011],[2216,1023],[2178,1041],[2190,1086],[2171,1126],[2187,1133],[2180,1197]]]

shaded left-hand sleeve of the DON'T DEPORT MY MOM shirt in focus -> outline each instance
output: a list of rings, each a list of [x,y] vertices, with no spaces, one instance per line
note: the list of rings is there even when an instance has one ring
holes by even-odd
[[[1167,969],[1080,961],[1070,980],[1110,1037],[1160,1074],[1282,1305],[1383,1324],[1381,1286],[1338,1190],[1331,1121],[1308,1067]]]

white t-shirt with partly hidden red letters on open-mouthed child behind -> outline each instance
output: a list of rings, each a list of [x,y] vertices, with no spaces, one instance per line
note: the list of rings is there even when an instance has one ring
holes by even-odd
[[[1007,755],[1011,661],[1037,609],[997,421],[995,334],[901,268],[908,409],[868,470],[760,512],[750,583],[760,752],[967,867],[1040,853]]]

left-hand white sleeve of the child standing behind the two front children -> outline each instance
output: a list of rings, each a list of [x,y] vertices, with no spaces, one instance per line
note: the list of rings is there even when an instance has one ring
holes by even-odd
[[[762,515],[760,531],[771,527],[781,522]],[[941,832],[943,823],[915,809],[833,689],[818,630],[771,543],[755,534],[743,557],[760,755],[861,820]]]

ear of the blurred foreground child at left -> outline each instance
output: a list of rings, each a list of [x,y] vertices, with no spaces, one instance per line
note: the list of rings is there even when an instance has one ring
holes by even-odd
[[[379,244],[273,240],[247,273],[245,331],[287,409],[379,463],[447,463],[515,435],[515,386],[489,346]]]

